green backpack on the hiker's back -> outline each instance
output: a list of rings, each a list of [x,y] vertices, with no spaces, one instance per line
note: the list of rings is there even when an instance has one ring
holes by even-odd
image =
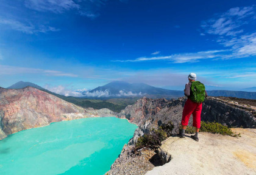
[[[205,98],[205,86],[200,81],[191,81],[190,100],[196,103],[202,103]]]

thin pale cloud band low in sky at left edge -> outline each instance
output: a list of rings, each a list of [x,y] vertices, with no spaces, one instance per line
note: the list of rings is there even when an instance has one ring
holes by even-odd
[[[75,74],[69,74],[58,70],[45,70],[29,67],[16,67],[0,65],[0,75],[18,75],[18,74],[44,74],[54,77],[77,77]]]

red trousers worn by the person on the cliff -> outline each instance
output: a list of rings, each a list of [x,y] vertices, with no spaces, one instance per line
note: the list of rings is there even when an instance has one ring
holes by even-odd
[[[185,103],[182,113],[182,125],[187,126],[190,115],[193,114],[193,126],[200,128],[201,126],[202,103],[195,103],[188,99]]]

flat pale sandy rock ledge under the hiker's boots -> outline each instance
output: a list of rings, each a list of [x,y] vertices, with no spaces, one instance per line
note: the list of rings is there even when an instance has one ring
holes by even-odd
[[[169,137],[160,149],[171,155],[171,161],[146,175],[256,174],[256,129],[232,131],[240,132],[241,137],[207,132],[199,133],[199,142],[190,137]]]

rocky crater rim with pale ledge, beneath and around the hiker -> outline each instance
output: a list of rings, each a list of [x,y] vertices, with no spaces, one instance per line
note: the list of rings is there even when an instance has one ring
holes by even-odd
[[[199,142],[188,137],[176,137],[187,98],[166,100],[165,98],[140,98],[134,105],[122,110],[118,117],[127,118],[138,125],[129,145],[113,163],[108,175],[147,174],[256,174],[256,109],[255,106],[236,101],[207,97],[204,101],[201,120],[218,122],[232,127],[241,137],[222,136],[199,132]],[[254,102],[254,101],[251,101]],[[193,117],[190,118],[189,126]],[[132,153],[138,137],[148,134],[151,128],[172,122],[173,136],[162,142],[160,149],[142,148],[139,154]],[[244,129],[246,128],[246,129]],[[157,158],[158,157],[158,158]],[[159,166],[158,162],[169,163]],[[107,174],[106,173],[106,174]]]

